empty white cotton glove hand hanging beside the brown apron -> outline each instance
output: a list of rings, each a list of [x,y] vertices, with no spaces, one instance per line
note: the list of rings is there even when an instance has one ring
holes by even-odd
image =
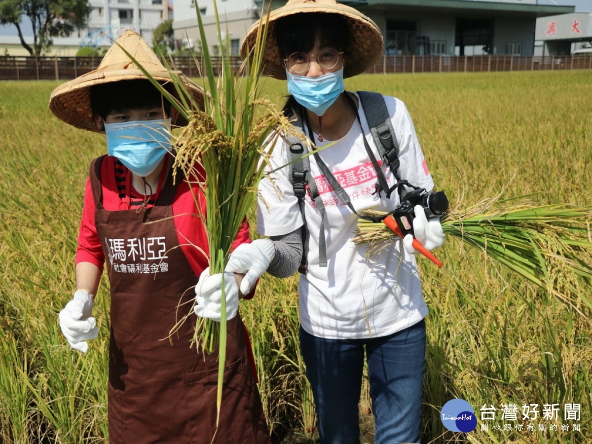
[[[83,289],[76,290],[72,300],[60,311],[59,319],[60,329],[70,347],[86,353],[86,341],[99,334],[96,319],[92,317],[92,294]]]

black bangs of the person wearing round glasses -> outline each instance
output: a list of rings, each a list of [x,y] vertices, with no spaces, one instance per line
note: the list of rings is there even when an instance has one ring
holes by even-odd
[[[309,52],[317,37],[321,47],[332,47],[337,51],[349,47],[349,24],[340,14],[307,12],[288,15],[278,18],[274,31],[282,58],[295,52]]]

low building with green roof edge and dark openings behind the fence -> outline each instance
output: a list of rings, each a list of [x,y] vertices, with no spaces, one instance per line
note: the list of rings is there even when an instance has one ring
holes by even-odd
[[[538,17],[574,7],[539,0],[364,0],[391,54],[530,56]]]

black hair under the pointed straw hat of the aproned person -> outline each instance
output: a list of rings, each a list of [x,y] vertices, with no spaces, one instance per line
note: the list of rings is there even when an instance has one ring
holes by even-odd
[[[171,92],[171,84],[163,86]],[[91,109],[102,118],[113,112],[164,107],[170,115],[170,102],[148,79],[122,80],[91,86]]]

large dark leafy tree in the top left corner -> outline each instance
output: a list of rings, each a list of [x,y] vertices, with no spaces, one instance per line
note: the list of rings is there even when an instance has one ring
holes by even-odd
[[[84,28],[92,7],[88,0],[0,0],[0,24],[13,24],[31,56],[40,56],[52,46],[52,37],[67,37],[75,28]],[[31,20],[33,46],[22,35],[22,16]]]

